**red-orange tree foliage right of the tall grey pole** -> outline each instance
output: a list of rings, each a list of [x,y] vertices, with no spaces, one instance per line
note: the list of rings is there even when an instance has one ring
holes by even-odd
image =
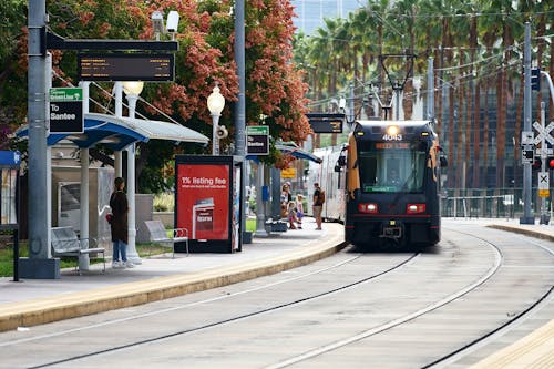
[[[308,85],[293,63],[294,9],[288,0],[247,1],[246,7],[247,124],[269,125],[285,142],[304,142],[311,129],[306,117]],[[279,167],[290,157],[274,152]]]

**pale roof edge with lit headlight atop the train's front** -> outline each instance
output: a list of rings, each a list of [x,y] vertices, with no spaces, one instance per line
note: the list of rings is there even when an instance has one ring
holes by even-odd
[[[353,132],[357,136],[362,134],[366,140],[380,140],[390,126],[397,126],[399,133],[407,137],[420,136],[422,133],[429,137],[435,136],[432,121],[356,121]]]

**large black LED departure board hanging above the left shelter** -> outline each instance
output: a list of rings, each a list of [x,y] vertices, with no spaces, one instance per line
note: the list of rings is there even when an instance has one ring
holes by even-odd
[[[175,79],[174,54],[80,54],[81,81],[153,81]]]

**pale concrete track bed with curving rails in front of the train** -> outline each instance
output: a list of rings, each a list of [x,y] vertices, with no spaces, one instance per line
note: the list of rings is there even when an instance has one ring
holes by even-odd
[[[244,350],[237,350],[235,355],[224,351],[219,357],[211,358],[213,368],[233,366],[233,362],[242,362],[244,368],[332,368],[345,358],[359,358],[356,355],[361,355],[363,361],[349,367],[379,366],[386,360],[383,356],[388,351],[379,352],[372,348],[383,342],[397,342],[393,349],[403,352],[409,362],[398,360],[389,362],[387,368],[455,366],[463,360],[471,361],[468,358],[476,349],[493,342],[535,311],[552,306],[554,254],[547,243],[496,230],[478,233],[455,228],[445,229],[444,233],[447,237],[443,237],[440,247],[418,254],[345,252],[325,262],[261,278],[254,284],[214,290],[205,294],[209,295],[206,298],[202,294],[194,298],[177,298],[171,303],[171,307],[165,308],[156,306],[161,305],[156,303],[147,311],[138,309],[141,311],[124,318],[107,314],[104,321],[94,325],[75,321],[72,327],[58,331],[48,331],[47,328],[42,334],[0,344],[0,356],[4,350],[18,350],[33,342],[55,342],[69,337],[84,339],[88,332],[130,324],[141,326],[144,321],[160,321],[162,317],[178,316],[183,311],[196,309],[203,312],[194,319],[181,321],[178,328],[158,329],[150,335],[129,335],[110,347],[52,355],[41,362],[29,362],[25,367],[62,368],[94,363],[106,356],[130,350],[148,355],[153,347],[160,348],[160,345],[167,342],[179,346],[186,342],[193,346],[191,350],[194,351],[199,349],[199,345],[193,341],[205,342],[206,336],[225,336],[234,328],[253,331],[245,334],[247,338],[240,338],[240,341],[248,340],[254,352],[257,352],[258,346],[263,352],[267,340],[276,341],[277,347],[279,341],[286,346],[285,335],[301,336],[301,345],[295,349],[266,352],[265,359],[260,358],[252,366],[242,362]],[[491,235],[500,239],[491,240]],[[535,275],[525,277],[533,270]],[[365,274],[361,275],[361,271]],[[537,278],[536,275],[542,277]],[[491,300],[500,301],[502,296],[513,293],[514,286],[523,286],[517,290],[519,298],[506,298],[497,306],[491,305]],[[355,297],[356,303],[348,305]],[[227,308],[236,304],[242,304],[242,307],[234,311]],[[475,311],[475,306],[486,307],[485,314]],[[311,311],[310,319],[298,318],[307,311]],[[474,315],[463,316],[471,311]],[[440,321],[456,320],[461,320],[461,325],[441,328],[458,336],[449,336],[444,342],[430,339],[420,347],[410,339],[401,341],[406,337],[432,338],[433,329],[437,335],[439,328],[429,327]],[[283,328],[271,325],[271,321],[281,321]],[[274,331],[270,327],[274,327]],[[258,331],[264,332],[264,337],[260,338]],[[410,346],[416,348],[410,349]],[[209,349],[206,348],[206,351]],[[189,362],[196,367],[203,362],[202,358],[192,357],[185,358],[183,363]],[[142,358],[141,361],[148,362],[148,359]],[[158,363],[162,368],[163,362]]]

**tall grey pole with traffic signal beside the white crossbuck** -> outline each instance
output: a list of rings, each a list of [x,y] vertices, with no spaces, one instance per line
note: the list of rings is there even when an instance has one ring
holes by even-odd
[[[523,132],[522,143],[526,137],[533,136],[531,127],[531,24],[525,22],[525,45],[523,53]],[[532,147],[534,150],[534,146]],[[531,213],[531,163],[523,161],[523,217],[520,224],[535,224],[535,218]]]

